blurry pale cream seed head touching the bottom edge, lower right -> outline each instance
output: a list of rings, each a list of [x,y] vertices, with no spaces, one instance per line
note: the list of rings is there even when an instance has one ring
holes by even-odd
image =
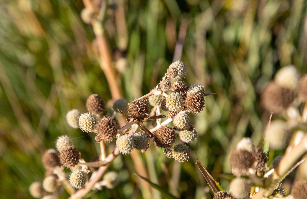
[[[243,199],[250,193],[251,184],[245,178],[235,178],[230,182],[229,192],[237,199]]]

